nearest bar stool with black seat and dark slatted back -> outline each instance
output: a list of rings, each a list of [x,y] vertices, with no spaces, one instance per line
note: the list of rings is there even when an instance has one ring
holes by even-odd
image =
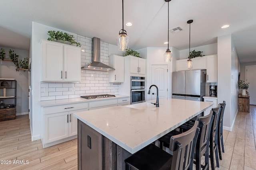
[[[126,170],[192,170],[197,126],[198,121],[190,130],[171,137],[169,149],[173,155],[150,144],[124,160]]]

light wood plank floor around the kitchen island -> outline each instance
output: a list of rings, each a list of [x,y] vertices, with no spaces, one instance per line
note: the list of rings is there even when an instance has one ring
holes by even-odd
[[[225,153],[216,169],[256,170],[256,106],[250,110],[238,112],[233,131],[223,132]],[[77,140],[43,149],[41,140],[31,141],[28,115],[17,116],[0,122],[0,161],[1,170],[76,170]]]

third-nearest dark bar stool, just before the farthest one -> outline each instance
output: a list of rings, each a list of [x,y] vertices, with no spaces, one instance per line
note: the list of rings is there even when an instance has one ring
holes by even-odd
[[[211,128],[211,132],[210,132],[210,160],[211,160],[211,168],[212,170],[215,169],[214,166],[214,153],[215,153],[215,159],[216,159],[216,166],[219,167],[219,158],[218,158],[218,121],[219,121],[219,117],[220,117],[220,104],[215,107],[212,108],[213,111],[213,115],[214,115],[214,119],[212,121],[212,128]]]

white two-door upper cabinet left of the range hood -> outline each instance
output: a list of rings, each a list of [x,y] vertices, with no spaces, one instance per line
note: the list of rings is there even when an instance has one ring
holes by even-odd
[[[42,81],[81,80],[81,48],[42,40]]]

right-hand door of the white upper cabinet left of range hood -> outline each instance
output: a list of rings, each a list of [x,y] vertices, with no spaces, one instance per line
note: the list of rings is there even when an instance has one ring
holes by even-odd
[[[64,81],[81,80],[81,49],[64,45]]]

